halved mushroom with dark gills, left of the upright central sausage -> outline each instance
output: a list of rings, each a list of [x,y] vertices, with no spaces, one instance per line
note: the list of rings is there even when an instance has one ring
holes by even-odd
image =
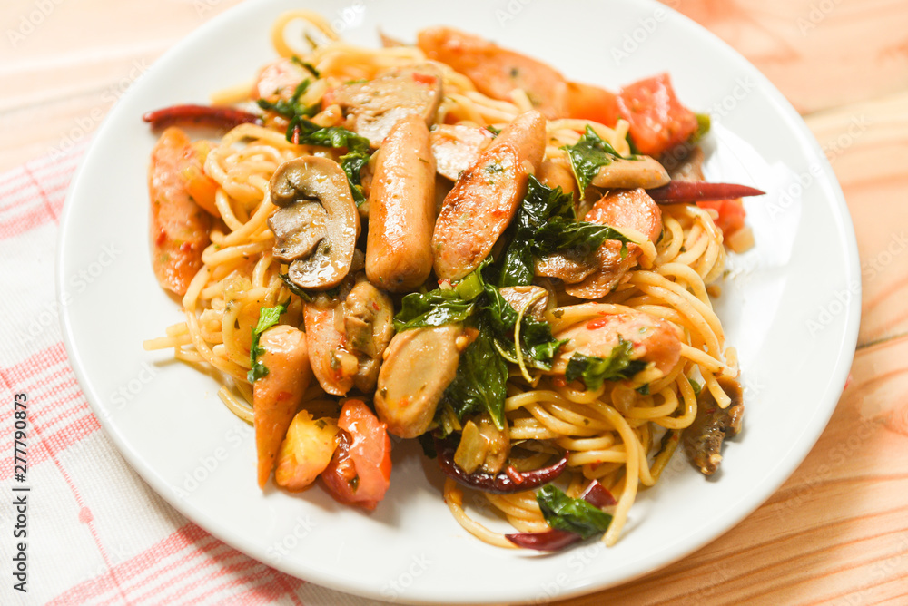
[[[271,177],[271,202],[281,207],[268,219],[274,256],[291,263],[291,281],[316,290],[337,286],[350,272],[360,235],[341,166],[316,156],[284,162]]]

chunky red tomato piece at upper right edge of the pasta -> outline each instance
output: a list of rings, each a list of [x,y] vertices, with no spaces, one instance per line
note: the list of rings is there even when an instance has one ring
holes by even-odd
[[[617,105],[637,150],[649,156],[686,142],[697,129],[696,114],[678,101],[667,73],[625,86]]]

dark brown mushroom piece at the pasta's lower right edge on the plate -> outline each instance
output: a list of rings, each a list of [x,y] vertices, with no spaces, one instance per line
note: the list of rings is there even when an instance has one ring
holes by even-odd
[[[741,384],[735,379],[720,376],[719,386],[731,397],[731,404],[720,408],[706,387],[696,397],[696,417],[684,433],[687,458],[701,474],[712,475],[722,462],[722,442],[741,431],[744,418],[744,397]]]

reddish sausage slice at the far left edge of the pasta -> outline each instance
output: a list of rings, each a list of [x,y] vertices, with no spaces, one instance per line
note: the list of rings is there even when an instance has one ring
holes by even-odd
[[[202,269],[202,251],[212,243],[212,217],[192,200],[183,179],[183,151],[189,144],[179,128],[167,129],[154,145],[148,171],[154,276],[181,297]]]

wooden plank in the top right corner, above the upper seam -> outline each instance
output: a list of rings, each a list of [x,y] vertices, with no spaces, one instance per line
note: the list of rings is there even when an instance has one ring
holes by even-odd
[[[799,112],[908,86],[902,0],[663,1],[744,54]]]

